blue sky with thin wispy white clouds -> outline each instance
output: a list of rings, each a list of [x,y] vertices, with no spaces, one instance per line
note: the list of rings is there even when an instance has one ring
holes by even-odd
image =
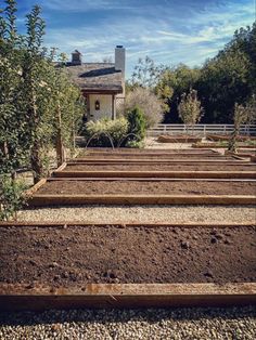
[[[0,0],[0,3],[3,2]],[[44,44],[85,62],[102,62],[127,49],[127,76],[139,57],[157,64],[201,65],[234,30],[255,21],[255,0],[17,0],[18,26],[37,3],[47,22]]]

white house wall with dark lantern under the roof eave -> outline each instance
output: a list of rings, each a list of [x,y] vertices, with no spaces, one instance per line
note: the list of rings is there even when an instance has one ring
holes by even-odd
[[[90,94],[90,116],[89,119],[98,120],[103,117],[112,119],[112,95],[111,94]],[[100,109],[95,110],[95,101],[100,102]]]

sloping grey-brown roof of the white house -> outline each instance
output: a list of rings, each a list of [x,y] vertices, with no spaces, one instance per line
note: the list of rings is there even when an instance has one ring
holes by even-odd
[[[123,92],[123,76],[115,69],[115,64],[110,63],[82,63],[73,65],[67,63],[66,70],[72,80],[85,92],[113,91]]]

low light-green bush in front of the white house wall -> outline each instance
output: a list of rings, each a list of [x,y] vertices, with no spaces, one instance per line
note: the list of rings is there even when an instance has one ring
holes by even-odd
[[[90,120],[86,125],[84,135],[89,142],[88,146],[107,147],[118,146],[128,133],[128,121],[124,117],[115,120],[103,118],[101,120]]]

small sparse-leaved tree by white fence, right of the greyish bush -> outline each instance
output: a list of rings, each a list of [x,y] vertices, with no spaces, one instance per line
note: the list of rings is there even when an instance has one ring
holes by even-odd
[[[192,126],[200,121],[203,115],[203,107],[201,102],[197,100],[197,92],[190,89],[188,94],[181,95],[181,101],[178,106],[179,117],[182,119],[184,125]]]

